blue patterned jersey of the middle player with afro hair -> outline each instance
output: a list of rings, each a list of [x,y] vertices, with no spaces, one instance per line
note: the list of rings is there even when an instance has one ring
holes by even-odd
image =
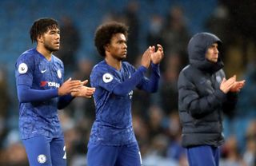
[[[136,142],[132,128],[131,101],[133,91],[126,96],[115,95],[116,85],[129,79],[136,71],[132,65],[122,62],[117,70],[101,61],[90,74],[90,83],[96,88],[94,102],[96,119],[90,133],[90,143],[123,145]]]

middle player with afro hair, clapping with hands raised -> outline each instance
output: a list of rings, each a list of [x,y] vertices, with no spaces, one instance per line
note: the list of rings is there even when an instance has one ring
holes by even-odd
[[[131,101],[133,89],[149,93],[158,90],[159,63],[163,48],[150,46],[142,55],[141,65],[135,69],[126,61],[128,27],[109,22],[99,26],[94,37],[98,53],[104,57],[90,74],[96,88],[94,102],[96,120],[88,143],[89,166],[138,166],[142,159],[132,127]],[[151,65],[151,66],[150,66]],[[150,78],[145,77],[150,67]]]

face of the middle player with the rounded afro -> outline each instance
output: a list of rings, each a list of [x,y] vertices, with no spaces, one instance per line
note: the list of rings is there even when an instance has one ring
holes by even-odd
[[[122,61],[126,58],[127,53],[126,36],[121,33],[114,34],[107,48],[112,57]]]

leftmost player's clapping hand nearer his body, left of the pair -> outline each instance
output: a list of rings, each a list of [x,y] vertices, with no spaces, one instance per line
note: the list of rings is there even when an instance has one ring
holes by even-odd
[[[69,78],[58,88],[58,96],[78,92],[82,85],[83,83],[80,80],[71,80],[71,78]]]

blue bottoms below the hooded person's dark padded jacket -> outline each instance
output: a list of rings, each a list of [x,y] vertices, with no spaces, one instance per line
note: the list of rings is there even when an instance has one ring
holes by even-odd
[[[220,150],[210,145],[186,148],[190,166],[218,166]]]

